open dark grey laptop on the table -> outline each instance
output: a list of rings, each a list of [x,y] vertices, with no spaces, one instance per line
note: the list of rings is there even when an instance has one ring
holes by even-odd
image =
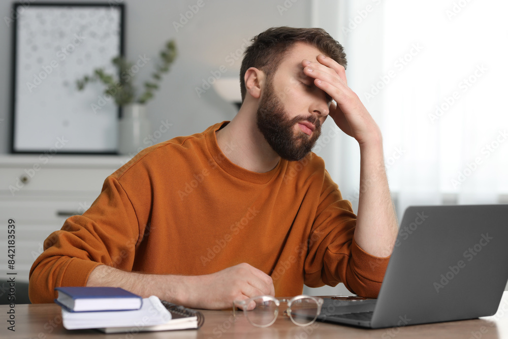
[[[368,328],[494,315],[508,280],[508,205],[411,206],[377,299],[326,298],[318,320]]]

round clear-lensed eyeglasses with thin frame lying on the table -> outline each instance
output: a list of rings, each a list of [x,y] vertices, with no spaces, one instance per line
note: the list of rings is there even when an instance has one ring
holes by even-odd
[[[254,301],[256,307],[248,311],[248,305]],[[285,313],[298,326],[312,324],[321,313],[323,299],[310,295],[298,295],[291,299],[276,299],[271,295],[261,295],[246,300],[233,301],[233,316],[236,317],[236,307],[243,310],[248,322],[256,327],[268,327],[275,322],[279,314],[279,305],[287,302]]]

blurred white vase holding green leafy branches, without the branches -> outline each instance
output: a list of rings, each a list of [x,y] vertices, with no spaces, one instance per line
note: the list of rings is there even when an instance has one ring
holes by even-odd
[[[143,140],[150,134],[150,121],[146,116],[146,106],[130,104],[122,107],[122,117],[118,126],[118,153],[135,156],[144,146]]]

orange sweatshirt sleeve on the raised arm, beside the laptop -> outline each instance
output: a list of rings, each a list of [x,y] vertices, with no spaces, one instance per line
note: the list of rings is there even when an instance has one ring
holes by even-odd
[[[354,239],[356,215],[342,199],[336,183],[325,171],[323,189],[309,238],[305,284],[345,287],[360,296],[376,298],[390,257],[370,255]]]

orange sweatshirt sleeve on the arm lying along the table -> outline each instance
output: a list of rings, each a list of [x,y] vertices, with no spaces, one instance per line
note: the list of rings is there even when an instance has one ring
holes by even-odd
[[[138,225],[129,197],[117,179],[109,176],[90,208],[67,219],[61,230],[44,241],[44,252],[30,269],[31,302],[53,302],[55,287],[85,286],[90,272],[100,264],[131,270]]]

